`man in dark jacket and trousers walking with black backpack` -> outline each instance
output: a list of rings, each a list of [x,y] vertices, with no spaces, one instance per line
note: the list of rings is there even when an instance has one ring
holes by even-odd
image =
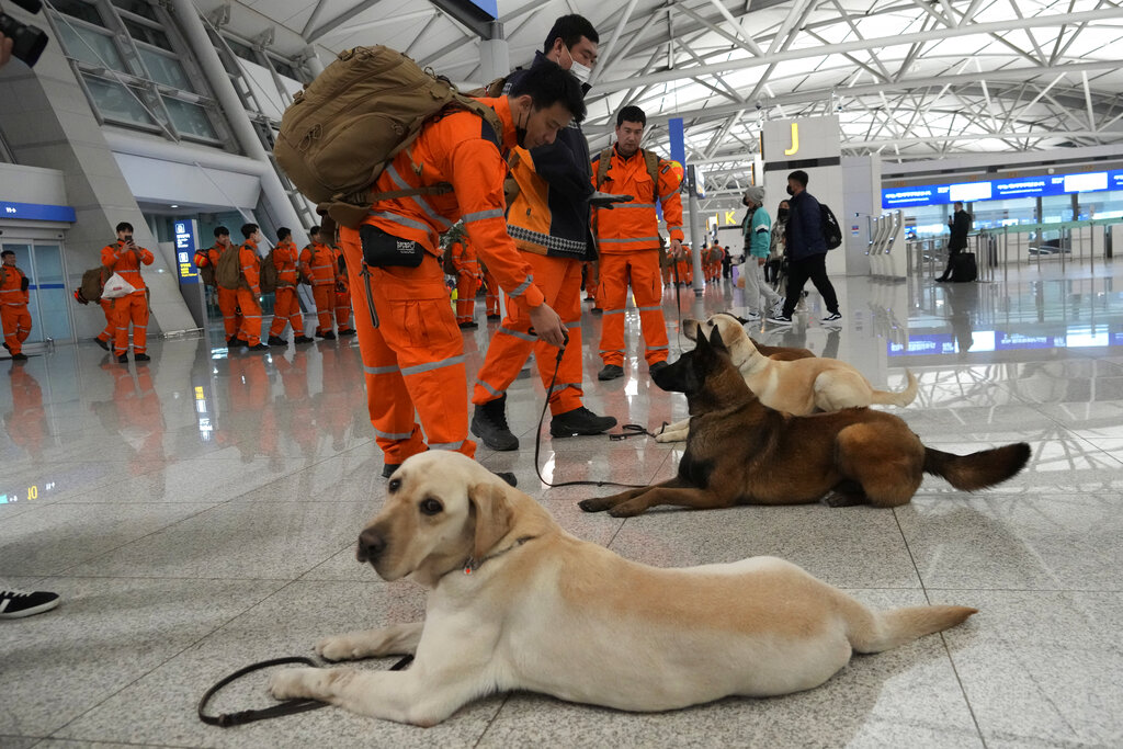
[[[784,309],[768,318],[769,322],[791,325],[792,313],[811,280],[827,305],[823,322],[841,320],[839,300],[831,280],[827,277],[827,240],[823,238],[822,213],[819,201],[807,192],[807,173],[797,170],[787,175],[787,194],[791,214],[786,230],[788,258],[787,296]]]

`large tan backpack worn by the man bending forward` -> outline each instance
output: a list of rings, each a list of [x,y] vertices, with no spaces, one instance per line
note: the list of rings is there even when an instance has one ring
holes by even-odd
[[[371,190],[391,159],[417,139],[421,127],[448,108],[478,115],[491,125],[496,140],[502,137],[503,126],[494,110],[400,52],[381,45],[345,49],[293,97],[281,118],[273,153],[296,189],[321,212],[356,228],[376,200],[453,190],[448,183],[383,193]]]

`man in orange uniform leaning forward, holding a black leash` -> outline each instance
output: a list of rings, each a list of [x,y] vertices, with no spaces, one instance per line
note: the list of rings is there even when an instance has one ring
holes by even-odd
[[[473,112],[453,110],[426,124],[374,188],[389,192],[400,190],[401,182],[409,188],[447,182],[451,192],[377,200],[359,230],[340,228],[347,274],[357,290],[351,301],[367,408],[386,476],[405,458],[424,451],[426,439],[428,449],[475,455],[476,445],[468,439],[464,338],[440,264],[439,237],[453,223],[464,221],[511,304],[530,319],[538,336],[553,346],[564,342],[562,319],[545,303],[530,264],[506,232],[504,153],[517,144],[551,143],[570,118],[584,117],[581,89],[555,67],[528,74],[510,95],[482,101],[495,111],[500,133]],[[426,165],[420,175],[412,164]],[[400,243],[413,243],[420,264],[396,262]],[[371,261],[366,267],[364,253]]]

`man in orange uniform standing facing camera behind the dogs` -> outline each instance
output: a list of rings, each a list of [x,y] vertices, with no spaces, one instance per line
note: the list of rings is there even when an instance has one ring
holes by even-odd
[[[682,168],[639,147],[647,116],[639,107],[624,107],[617,115],[617,145],[593,159],[593,181],[599,190],[631,195],[612,212],[593,210],[593,225],[601,248],[601,286],[604,304],[601,323],[601,360],[597,380],[615,380],[624,374],[624,308],[631,285],[643,331],[643,358],[648,369],[667,366],[667,323],[663,319],[663,278],[659,274],[659,218],[655,203],[670,230],[670,248],[683,240],[683,203],[678,186]],[[606,161],[606,165],[605,162]],[[651,172],[655,174],[651,174]],[[603,179],[602,179],[603,175]],[[657,177],[657,179],[656,179]]]

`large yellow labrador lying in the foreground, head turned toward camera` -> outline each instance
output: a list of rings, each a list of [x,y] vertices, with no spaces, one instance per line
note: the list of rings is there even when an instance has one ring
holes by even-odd
[[[290,668],[270,688],[363,715],[441,722],[493,692],[620,710],[810,689],[847,665],[959,624],[964,606],[873,611],[772,557],[660,569],[566,533],[471,458],[430,450],[390,479],[358,540],[386,581],[431,588],[426,621],[331,637],[329,660],[416,654],[408,670]]]

